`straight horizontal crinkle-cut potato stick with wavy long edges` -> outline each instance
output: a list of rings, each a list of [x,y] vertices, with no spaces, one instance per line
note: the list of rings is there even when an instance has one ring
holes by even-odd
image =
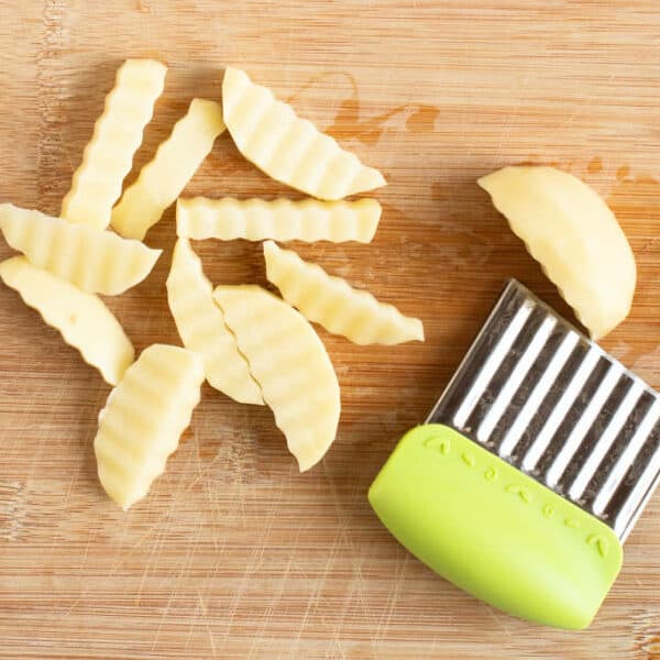
[[[207,199],[179,198],[176,228],[179,237],[197,241],[359,241],[369,243],[376,233],[381,205],[375,199],[320,201],[318,199]]]

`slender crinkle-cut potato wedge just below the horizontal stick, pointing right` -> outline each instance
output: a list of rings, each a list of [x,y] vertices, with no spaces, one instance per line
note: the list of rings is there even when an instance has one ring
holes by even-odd
[[[302,261],[273,241],[264,243],[266,276],[282,297],[310,321],[356,344],[397,344],[424,341],[419,319],[404,316],[393,305],[378,302],[369,292],[352,288],[341,277]]]

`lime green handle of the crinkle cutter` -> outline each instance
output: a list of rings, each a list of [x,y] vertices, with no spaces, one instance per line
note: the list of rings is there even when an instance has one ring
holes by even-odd
[[[588,626],[622,565],[609,527],[443,425],[409,431],[369,499],[437,573],[539,624]]]

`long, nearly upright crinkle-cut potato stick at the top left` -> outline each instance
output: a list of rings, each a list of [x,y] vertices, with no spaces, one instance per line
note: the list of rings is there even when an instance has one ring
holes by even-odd
[[[166,73],[167,67],[153,59],[127,59],[119,68],[82,163],[74,173],[72,189],[62,202],[62,218],[98,229],[110,224],[112,205],[142,144]]]

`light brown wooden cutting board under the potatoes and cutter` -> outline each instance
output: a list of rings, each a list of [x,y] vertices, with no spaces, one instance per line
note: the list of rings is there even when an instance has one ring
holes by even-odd
[[[373,244],[295,248],[420,316],[428,339],[361,348],[320,332],[343,414],[304,475],[268,410],[205,387],[166,474],[124,514],[91,448],[108,386],[1,287],[0,656],[658,660],[660,494],[582,632],[519,622],[435,576],[365,494],[507,277],[570,314],[474,183],[503,165],[556,164],[609,201],[639,286],[603,344],[660,386],[659,38],[654,0],[1,1],[1,201],[58,211],[125,57],[170,67],[136,168],[193,96],[220,97],[231,63],[385,172]],[[186,194],[297,197],[227,135]],[[165,250],[152,275],[108,301],[138,350],[178,342],[173,241],[169,210],[147,237]],[[258,244],[196,248],[215,283],[264,282]]]

